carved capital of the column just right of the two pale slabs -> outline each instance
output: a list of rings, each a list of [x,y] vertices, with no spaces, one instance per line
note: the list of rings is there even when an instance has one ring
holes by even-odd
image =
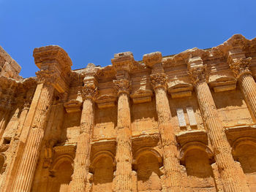
[[[189,68],[188,74],[189,74],[190,80],[194,85],[200,81],[208,82],[209,74],[206,69],[206,65]]]

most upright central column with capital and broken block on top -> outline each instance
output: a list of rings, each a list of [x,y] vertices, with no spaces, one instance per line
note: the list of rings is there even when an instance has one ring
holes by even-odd
[[[116,174],[113,191],[132,191],[132,130],[129,109],[129,70],[133,64],[132,53],[118,53],[112,59],[116,70],[113,83],[118,91],[118,120],[116,132]]]

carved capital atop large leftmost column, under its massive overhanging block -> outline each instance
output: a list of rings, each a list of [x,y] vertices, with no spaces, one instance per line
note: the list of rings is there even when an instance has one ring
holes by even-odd
[[[55,83],[59,79],[59,74],[53,70],[40,70],[36,72],[38,83]]]

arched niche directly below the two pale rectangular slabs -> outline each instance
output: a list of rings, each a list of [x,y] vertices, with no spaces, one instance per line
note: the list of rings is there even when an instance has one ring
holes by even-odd
[[[189,187],[192,191],[217,191],[211,164],[214,155],[202,142],[189,142],[181,147],[181,164],[187,170]]]

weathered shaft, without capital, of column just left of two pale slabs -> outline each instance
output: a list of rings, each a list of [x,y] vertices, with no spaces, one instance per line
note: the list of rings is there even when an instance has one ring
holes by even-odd
[[[155,88],[159,134],[164,150],[165,186],[167,191],[183,191],[176,137],[170,123],[170,107],[165,88]]]

